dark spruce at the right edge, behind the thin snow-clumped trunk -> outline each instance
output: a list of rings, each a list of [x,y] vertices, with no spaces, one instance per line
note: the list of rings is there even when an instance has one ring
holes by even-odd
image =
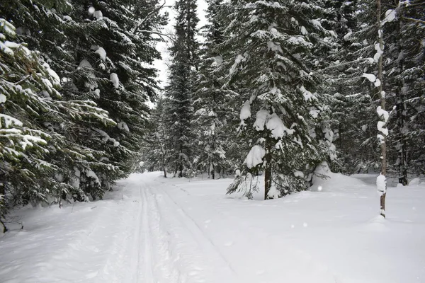
[[[410,174],[423,173],[424,120],[424,48],[425,25],[421,11],[425,4],[420,1],[395,1],[395,19],[384,25],[385,93],[388,103],[395,108],[390,119],[388,165],[397,173],[399,183],[407,185]],[[390,6],[393,8],[392,6]],[[422,8],[422,9],[421,9]]]

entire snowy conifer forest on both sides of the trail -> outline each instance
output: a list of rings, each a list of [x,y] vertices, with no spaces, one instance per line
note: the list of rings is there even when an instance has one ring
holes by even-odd
[[[324,162],[376,173],[385,216],[387,178],[425,173],[424,1],[206,2],[199,27],[176,0],[172,34],[162,0],[0,2],[1,224],[135,171],[284,197]]]

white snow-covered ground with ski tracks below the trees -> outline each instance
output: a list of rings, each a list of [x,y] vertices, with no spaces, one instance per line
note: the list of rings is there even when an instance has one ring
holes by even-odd
[[[102,201],[14,211],[0,282],[425,282],[424,184],[390,187],[383,221],[363,180],[261,201],[225,195],[229,179],[134,174]]]

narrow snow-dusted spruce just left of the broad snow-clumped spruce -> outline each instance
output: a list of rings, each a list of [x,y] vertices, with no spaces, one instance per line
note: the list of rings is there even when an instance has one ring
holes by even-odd
[[[216,173],[223,174],[229,168],[226,154],[231,137],[231,130],[227,129],[231,96],[222,89],[220,65],[223,58],[218,51],[218,45],[224,41],[218,17],[221,5],[221,0],[208,1],[208,25],[204,27],[205,43],[201,49],[197,91],[193,99],[193,127],[198,141],[196,166],[207,171],[208,178],[212,179],[216,178]]]

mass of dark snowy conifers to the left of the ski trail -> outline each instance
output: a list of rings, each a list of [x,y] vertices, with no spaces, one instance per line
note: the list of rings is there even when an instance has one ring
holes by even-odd
[[[38,137],[26,148],[13,142],[17,153],[0,161],[2,204],[101,198],[134,170],[157,92],[149,64],[160,58],[159,9],[157,1],[1,2],[1,23],[16,35],[0,39],[22,43],[15,58],[0,57],[1,110],[21,121],[23,137]]]

